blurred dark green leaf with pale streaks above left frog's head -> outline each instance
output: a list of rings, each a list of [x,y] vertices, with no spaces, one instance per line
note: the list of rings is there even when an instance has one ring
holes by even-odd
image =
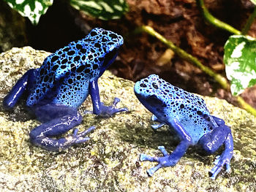
[[[75,9],[102,20],[118,19],[128,11],[125,0],[70,0]]]

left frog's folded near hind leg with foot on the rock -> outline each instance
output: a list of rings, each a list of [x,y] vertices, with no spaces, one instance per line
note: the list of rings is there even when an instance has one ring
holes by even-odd
[[[30,140],[34,145],[46,150],[65,150],[72,145],[86,142],[89,140],[89,137],[85,137],[86,134],[94,130],[94,126],[91,126],[78,134],[78,129],[75,128],[73,133],[67,137],[55,139],[53,137],[64,134],[81,123],[82,116],[78,110],[60,104],[46,104],[35,107],[34,112],[39,120],[45,123],[31,130]]]

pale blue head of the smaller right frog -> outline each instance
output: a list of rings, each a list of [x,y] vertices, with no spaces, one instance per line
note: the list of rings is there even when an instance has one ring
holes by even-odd
[[[165,90],[163,89],[164,84],[165,81],[160,79],[156,74],[151,74],[135,83],[135,95],[154,115],[165,115],[163,110],[165,110],[168,103]]]

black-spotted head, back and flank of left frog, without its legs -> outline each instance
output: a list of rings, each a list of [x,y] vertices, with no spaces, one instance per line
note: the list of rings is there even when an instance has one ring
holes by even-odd
[[[122,37],[112,31],[94,28],[86,38],[56,50],[38,69],[27,105],[53,100],[55,104],[80,106],[89,95],[90,80],[98,78],[106,67],[106,54],[122,43]]]

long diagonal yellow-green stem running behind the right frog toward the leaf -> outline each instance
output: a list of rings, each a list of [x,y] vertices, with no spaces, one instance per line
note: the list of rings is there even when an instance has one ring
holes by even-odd
[[[170,47],[170,49],[173,50],[173,52],[176,53],[179,57],[183,58],[185,61],[188,61],[191,64],[194,64],[209,76],[214,77],[214,80],[219,82],[222,88],[224,88],[227,91],[230,90],[230,85],[225,79],[225,77],[222,77],[222,75],[215,73],[209,67],[201,64],[201,62],[197,58],[193,57],[186,51],[182,50],[180,47],[177,47],[176,45],[173,44],[173,42],[170,42],[169,40],[165,39],[165,37],[162,37],[162,35],[157,33],[157,31],[154,31],[154,28],[151,28],[150,26],[141,26],[140,28],[136,29],[135,33],[138,33],[141,31],[145,31],[147,34],[150,34],[151,36],[156,37],[165,45],[167,45],[167,47]]]

